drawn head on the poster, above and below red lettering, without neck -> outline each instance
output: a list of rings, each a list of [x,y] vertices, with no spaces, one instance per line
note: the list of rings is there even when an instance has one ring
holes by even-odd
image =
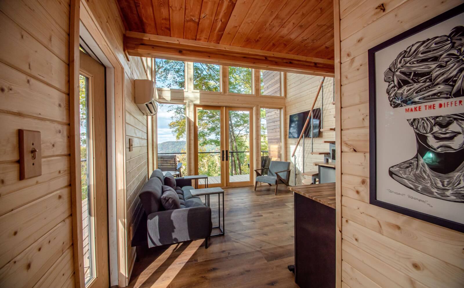
[[[384,73],[393,108],[464,96],[464,27],[409,46]],[[464,113],[408,119],[421,144],[435,152],[464,148]]]

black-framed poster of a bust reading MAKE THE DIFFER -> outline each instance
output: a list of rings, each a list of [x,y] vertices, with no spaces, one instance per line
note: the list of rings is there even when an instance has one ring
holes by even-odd
[[[464,232],[464,5],[368,62],[370,203]]]

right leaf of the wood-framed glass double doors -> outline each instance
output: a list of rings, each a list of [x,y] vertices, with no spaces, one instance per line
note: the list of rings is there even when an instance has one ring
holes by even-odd
[[[253,178],[252,108],[225,108],[226,186],[251,185]]]

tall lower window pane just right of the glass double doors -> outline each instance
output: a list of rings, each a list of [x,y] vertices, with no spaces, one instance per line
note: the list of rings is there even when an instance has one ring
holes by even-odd
[[[280,109],[261,108],[261,167],[280,161]],[[267,173],[265,170],[264,173]]]

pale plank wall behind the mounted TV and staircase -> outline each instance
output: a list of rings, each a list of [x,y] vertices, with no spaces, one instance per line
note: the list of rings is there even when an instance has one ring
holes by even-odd
[[[291,114],[308,111],[316,97],[317,88],[321,81],[321,76],[311,76],[303,74],[287,73],[287,102],[286,102],[286,115],[285,115],[285,137],[288,138],[288,119]],[[334,78],[326,77],[324,81],[324,107],[323,107],[323,127],[335,127],[335,105],[332,104],[334,97]],[[322,91],[316,102],[315,108],[321,107]],[[313,138],[313,150],[329,152],[329,144],[323,141],[335,141],[335,131],[320,131],[320,137]],[[293,149],[295,149],[297,139],[287,139],[287,161],[291,162],[291,175],[290,185],[301,185],[305,176],[299,173],[303,172],[303,140],[300,141],[298,149],[296,150],[296,183],[295,183],[295,159],[291,157]],[[314,162],[323,161],[323,155],[311,155],[311,138],[305,139],[304,144],[304,171],[317,170]]]

